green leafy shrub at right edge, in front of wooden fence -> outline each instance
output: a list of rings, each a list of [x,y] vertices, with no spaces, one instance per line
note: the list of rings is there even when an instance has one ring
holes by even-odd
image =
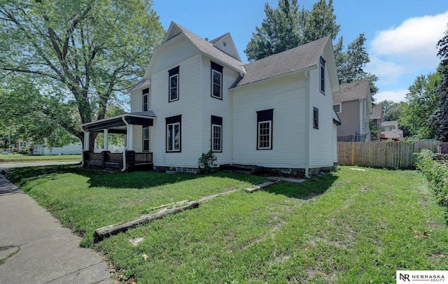
[[[436,155],[428,149],[423,149],[414,155],[417,159],[416,168],[428,179],[435,191],[437,202],[447,207],[445,214],[448,217],[448,166],[446,162],[435,160]]]

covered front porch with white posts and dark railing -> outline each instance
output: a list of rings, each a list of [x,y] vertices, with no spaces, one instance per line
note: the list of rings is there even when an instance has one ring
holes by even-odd
[[[141,127],[153,126],[155,115],[152,111],[139,113],[124,113],[112,118],[104,118],[94,122],[81,125],[84,132],[83,166],[99,166],[101,168],[121,169],[128,171],[132,169],[153,169],[152,152],[134,151],[134,125]],[[104,145],[102,152],[92,152],[89,150],[89,139],[91,132],[104,134]],[[113,153],[109,148],[109,133],[124,134],[125,150],[120,153]]]

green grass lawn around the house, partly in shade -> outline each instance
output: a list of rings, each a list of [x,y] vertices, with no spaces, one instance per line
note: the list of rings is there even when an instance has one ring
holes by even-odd
[[[395,283],[396,270],[448,270],[447,220],[421,173],[361,169],[235,192],[96,244],[97,227],[265,178],[70,166],[12,178],[137,283]]]

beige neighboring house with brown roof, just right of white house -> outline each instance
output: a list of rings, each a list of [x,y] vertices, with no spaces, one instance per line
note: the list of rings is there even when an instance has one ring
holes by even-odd
[[[341,92],[333,98],[333,108],[341,119],[337,141],[370,141],[372,97],[368,80],[340,86]]]

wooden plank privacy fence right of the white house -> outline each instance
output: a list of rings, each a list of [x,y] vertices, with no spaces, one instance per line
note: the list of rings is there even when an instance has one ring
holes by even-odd
[[[337,163],[349,166],[375,166],[391,169],[413,169],[414,152],[430,149],[437,152],[439,141],[409,142],[338,142]]]

